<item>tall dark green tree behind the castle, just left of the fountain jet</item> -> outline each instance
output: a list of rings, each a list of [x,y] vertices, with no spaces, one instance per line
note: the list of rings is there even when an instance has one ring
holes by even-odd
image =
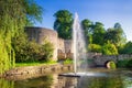
[[[54,30],[58,32],[58,36],[65,40],[72,38],[73,14],[68,10],[59,10],[54,16]]]

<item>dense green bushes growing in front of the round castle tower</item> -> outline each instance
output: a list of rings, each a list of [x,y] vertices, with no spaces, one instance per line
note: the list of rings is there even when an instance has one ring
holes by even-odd
[[[44,40],[44,44],[40,45],[35,41],[28,41],[28,36],[24,34],[21,36],[13,40],[12,43],[16,63],[50,61],[53,57],[54,47],[51,42]]]

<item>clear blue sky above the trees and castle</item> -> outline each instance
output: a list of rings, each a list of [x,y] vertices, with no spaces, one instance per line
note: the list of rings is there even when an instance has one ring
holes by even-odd
[[[58,10],[77,12],[79,20],[89,19],[92,22],[102,22],[106,30],[119,22],[127,35],[132,41],[132,0],[35,0],[44,9],[42,23],[36,26],[53,29]]]

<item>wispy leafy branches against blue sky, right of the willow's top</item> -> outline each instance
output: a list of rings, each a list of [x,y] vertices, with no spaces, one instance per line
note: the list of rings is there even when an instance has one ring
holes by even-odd
[[[26,13],[26,25],[33,25],[35,22],[42,22],[43,9],[34,0],[22,0],[23,9]]]

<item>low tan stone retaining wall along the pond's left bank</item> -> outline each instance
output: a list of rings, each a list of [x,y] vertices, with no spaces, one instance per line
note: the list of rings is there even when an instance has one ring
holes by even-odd
[[[72,72],[73,64],[55,64],[55,65],[43,65],[43,66],[26,66],[26,67],[15,67],[8,70],[4,74],[4,78],[8,79],[25,79],[26,77],[34,77],[51,73],[59,73],[59,72]]]

